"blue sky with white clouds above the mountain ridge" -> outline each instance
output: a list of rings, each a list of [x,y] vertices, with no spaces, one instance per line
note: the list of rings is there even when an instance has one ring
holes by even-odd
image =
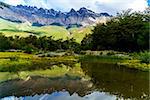
[[[81,7],[89,8],[95,12],[116,14],[122,10],[133,9],[143,11],[150,6],[150,0],[0,0],[11,5],[37,6],[38,8],[55,9],[68,12],[71,8],[78,10]]]

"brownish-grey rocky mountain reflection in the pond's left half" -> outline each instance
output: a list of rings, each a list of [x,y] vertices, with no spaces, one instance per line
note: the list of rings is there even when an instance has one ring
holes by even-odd
[[[15,79],[0,84],[0,98],[11,95],[31,96],[41,93],[52,93],[54,91],[67,90],[69,93],[79,93],[80,96],[87,94],[90,91],[92,84],[77,76],[65,75],[62,77],[46,78],[46,77],[31,77],[30,80],[24,81]]]

